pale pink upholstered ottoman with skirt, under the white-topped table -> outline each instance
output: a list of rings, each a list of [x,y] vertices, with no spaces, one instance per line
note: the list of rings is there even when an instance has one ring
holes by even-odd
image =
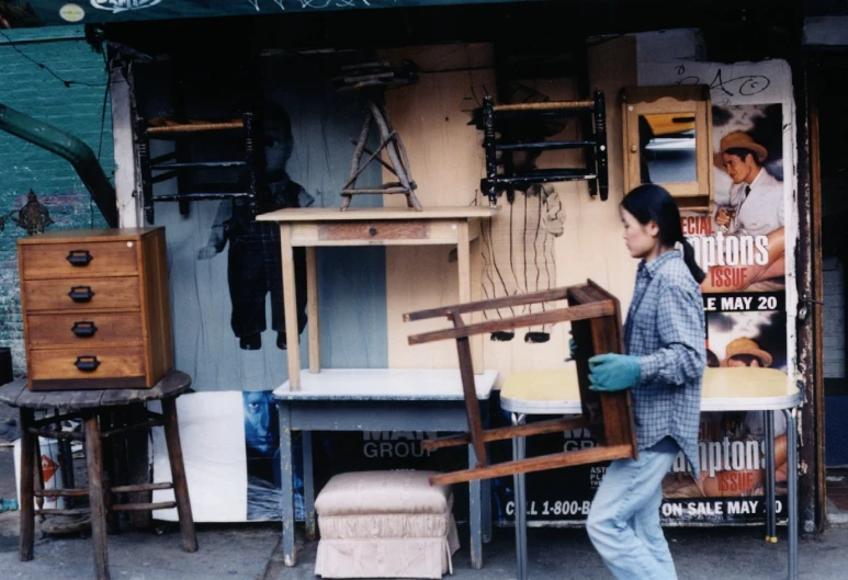
[[[449,486],[433,471],[355,471],[332,477],[315,500],[325,578],[441,578],[460,547]]]

